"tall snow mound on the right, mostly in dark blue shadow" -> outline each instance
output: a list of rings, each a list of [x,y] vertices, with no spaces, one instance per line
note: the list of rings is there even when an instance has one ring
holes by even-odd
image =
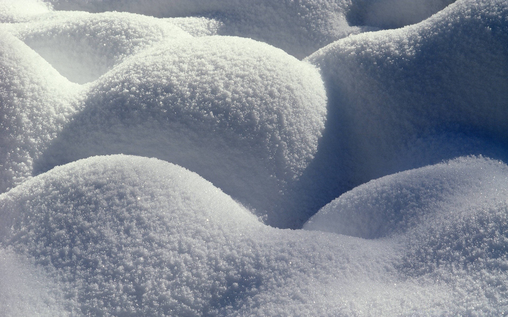
[[[337,197],[443,159],[505,159],[506,43],[506,2],[460,0],[421,23],[351,36],[308,57],[330,100],[320,161],[335,175],[324,187],[341,183]]]

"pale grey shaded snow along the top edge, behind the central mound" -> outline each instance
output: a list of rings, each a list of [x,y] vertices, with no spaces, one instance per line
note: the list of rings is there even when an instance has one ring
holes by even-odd
[[[155,17],[207,17],[219,21],[220,35],[266,42],[303,58],[349,34],[371,29],[350,26],[349,0],[185,0],[185,1],[51,1],[57,10],[126,11]]]

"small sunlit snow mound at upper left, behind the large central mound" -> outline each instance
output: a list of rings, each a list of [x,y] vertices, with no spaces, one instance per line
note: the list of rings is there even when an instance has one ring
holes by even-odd
[[[61,75],[78,84],[98,79],[125,57],[163,39],[190,38],[164,20],[119,12],[55,12],[13,29]]]

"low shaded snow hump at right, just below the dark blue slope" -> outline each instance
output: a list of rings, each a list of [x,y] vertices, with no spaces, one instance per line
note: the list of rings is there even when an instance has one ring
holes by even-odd
[[[446,208],[452,205],[472,208],[477,199],[495,199],[507,189],[505,164],[459,158],[360,185],[320,209],[303,228],[366,239],[386,237],[414,229],[439,213],[449,217]]]

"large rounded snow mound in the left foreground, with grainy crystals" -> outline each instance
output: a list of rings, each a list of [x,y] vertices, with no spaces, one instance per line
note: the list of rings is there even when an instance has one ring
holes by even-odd
[[[224,297],[226,242],[258,219],[196,173],[132,156],[59,166],[0,197],[0,238],[84,315],[198,315]],[[217,261],[214,262],[213,259]]]

